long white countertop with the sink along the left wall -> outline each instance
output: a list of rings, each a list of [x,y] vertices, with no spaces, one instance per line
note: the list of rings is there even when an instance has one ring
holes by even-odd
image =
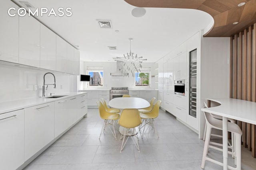
[[[36,97],[36,98],[25,98],[25,99],[20,99],[20,100],[13,100],[13,101],[8,101],[8,102],[0,102],[0,114],[10,112],[10,111],[19,110],[19,109],[24,109],[26,107],[36,106],[39,104],[54,102],[56,100],[62,100],[64,98],[69,98],[72,96],[76,96],[78,94],[83,94],[83,92],[62,93],[62,94],[54,95],[54,96],[67,95],[67,96],[60,97],[60,98]]]

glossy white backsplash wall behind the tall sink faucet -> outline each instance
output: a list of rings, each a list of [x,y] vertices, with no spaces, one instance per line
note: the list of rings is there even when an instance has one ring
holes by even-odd
[[[0,102],[42,96],[43,77],[46,72],[52,72],[56,77],[56,88],[54,89],[53,85],[49,85],[48,90],[46,90],[46,96],[50,95],[50,93],[77,92],[77,76],[36,69],[39,68],[20,68],[0,64]],[[53,84],[53,76],[47,74],[45,82],[46,84]],[[36,91],[34,91],[34,85],[37,86]]]

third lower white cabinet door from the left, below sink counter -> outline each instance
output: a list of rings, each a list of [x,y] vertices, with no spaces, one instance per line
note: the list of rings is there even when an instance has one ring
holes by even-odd
[[[68,101],[69,98],[55,101],[54,114],[54,137],[58,137],[62,132],[68,129]]]

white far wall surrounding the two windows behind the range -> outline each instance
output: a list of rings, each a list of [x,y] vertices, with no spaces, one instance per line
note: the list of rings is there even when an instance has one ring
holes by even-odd
[[[80,64],[80,67],[82,64]],[[151,87],[135,87],[134,77],[131,75],[128,76],[110,76],[110,73],[116,72],[116,62],[84,62],[84,70],[80,73],[86,74],[87,66],[103,66],[103,87],[87,87],[87,82],[82,82],[84,86],[79,85],[78,90],[83,89],[111,89],[111,87],[128,87],[129,89],[154,89],[154,78],[151,78]],[[151,75],[154,75],[154,63],[142,63],[142,66],[150,66],[151,67]]]

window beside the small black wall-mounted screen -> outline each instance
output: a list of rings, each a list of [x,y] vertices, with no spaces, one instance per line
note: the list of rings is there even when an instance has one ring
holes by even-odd
[[[88,86],[103,86],[103,67],[88,66],[87,73],[90,75]]]

